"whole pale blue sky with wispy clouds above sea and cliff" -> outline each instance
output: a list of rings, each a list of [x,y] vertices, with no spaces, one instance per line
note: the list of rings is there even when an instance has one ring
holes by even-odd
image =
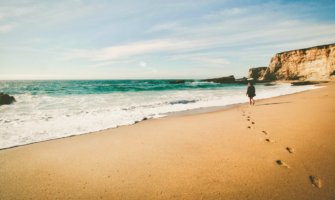
[[[247,76],[335,43],[334,0],[0,0],[0,80]]]

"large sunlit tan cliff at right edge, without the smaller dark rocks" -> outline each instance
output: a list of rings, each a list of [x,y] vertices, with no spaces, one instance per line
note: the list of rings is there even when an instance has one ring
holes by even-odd
[[[335,75],[335,44],[278,53],[258,80],[330,80]]]

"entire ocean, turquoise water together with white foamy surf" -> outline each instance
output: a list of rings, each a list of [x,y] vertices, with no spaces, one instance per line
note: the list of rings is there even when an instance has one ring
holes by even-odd
[[[256,86],[258,99],[317,86]],[[169,113],[248,102],[246,85],[173,80],[0,81],[0,149],[79,135]]]

